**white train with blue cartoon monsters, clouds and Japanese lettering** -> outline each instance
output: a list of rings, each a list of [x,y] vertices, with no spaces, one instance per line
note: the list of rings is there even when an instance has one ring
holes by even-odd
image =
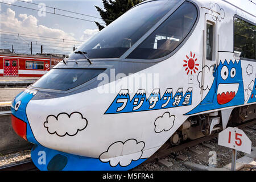
[[[133,169],[256,117],[255,31],[229,1],[139,3],[18,94],[13,129],[40,170]]]

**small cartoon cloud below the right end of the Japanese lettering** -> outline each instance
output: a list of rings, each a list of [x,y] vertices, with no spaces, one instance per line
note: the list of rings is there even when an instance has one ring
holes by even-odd
[[[155,119],[155,132],[168,131],[174,126],[175,115],[169,112],[164,113],[161,117]]]

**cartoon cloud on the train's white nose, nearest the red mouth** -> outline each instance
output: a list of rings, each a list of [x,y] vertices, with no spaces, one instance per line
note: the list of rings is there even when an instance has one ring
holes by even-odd
[[[87,123],[87,119],[83,118],[81,113],[74,112],[70,115],[60,113],[57,117],[49,115],[46,122],[44,122],[44,127],[47,128],[49,134],[64,137],[65,135],[76,135],[79,131],[86,128]]]

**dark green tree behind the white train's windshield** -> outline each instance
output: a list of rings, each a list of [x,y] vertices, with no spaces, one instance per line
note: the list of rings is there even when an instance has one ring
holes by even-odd
[[[124,14],[127,10],[131,9],[131,7],[141,3],[142,1],[144,0],[102,0],[104,10],[98,6],[95,7],[100,13],[102,20],[104,20],[106,23],[106,26],[108,26],[111,22]],[[101,23],[95,23],[98,27],[98,30],[105,28],[105,26],[103,26]]]

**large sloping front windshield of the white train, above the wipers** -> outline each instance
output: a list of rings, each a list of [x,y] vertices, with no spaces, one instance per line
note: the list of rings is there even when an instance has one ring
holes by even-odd
[[[90,59],[120,57],[178,2],[179,0],[148,1],[135,6],[77,51],[87,52]],[[84,59],[84,57],[72,53],[69,59]]]

